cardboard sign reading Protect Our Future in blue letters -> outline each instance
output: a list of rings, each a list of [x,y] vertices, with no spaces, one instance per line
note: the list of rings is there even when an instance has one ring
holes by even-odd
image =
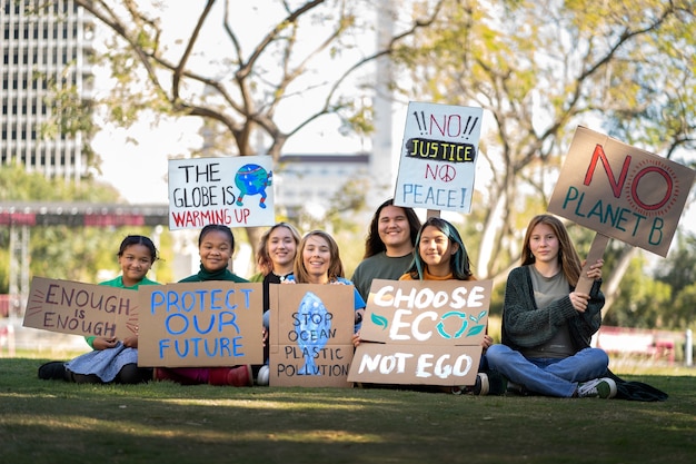
[[[226,280],[140,287],[138,365],[262,364],[262,284]]]

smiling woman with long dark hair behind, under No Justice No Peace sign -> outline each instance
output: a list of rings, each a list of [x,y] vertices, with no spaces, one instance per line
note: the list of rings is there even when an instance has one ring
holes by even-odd
[[[394,199],[377,208],[365,239],[365,256],[351,278],[364,300],[372,279],[398,280],[408,269],[419,229],[420,219],[411,208],[394,206]]]

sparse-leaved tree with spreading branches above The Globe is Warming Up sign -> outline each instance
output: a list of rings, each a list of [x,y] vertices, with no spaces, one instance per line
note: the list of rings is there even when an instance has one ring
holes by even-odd
[[[158,1],[76,3],[113,34],[102,53],[113,88],[97,102],[112,120],[128,125],[145,109],[200,117],[210,134],[222,135],[211,139],[225,144],[223,155],[261,151],[277,160],[288,138],[329,115],[369,130],[369,110],[355,95],[358,71],[427,27],[441,0],[374,52],[361,49],[374,29],[370,1],[207,0],[187,2],[177,22]]]

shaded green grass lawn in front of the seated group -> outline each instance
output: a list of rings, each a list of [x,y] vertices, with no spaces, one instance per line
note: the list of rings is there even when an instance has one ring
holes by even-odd
[[[361,388],[76,385],[0,358],[0,462],[689,463],[693,369],[634,368],[662,403]],[[623,373],[622,373],[623,374]]]

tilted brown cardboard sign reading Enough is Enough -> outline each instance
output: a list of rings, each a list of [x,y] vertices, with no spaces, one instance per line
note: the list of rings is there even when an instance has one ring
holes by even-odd
[[[138,313],[136,290],[34,277],[22,325],[123,339],[138,334]]]

